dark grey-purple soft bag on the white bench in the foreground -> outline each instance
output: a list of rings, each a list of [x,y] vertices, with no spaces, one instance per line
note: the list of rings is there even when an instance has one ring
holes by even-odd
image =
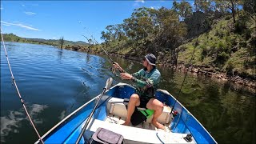
[[[92,136],[91,144],[122,144],[123,136],[121,134],[114,133],[113,131],[106,130],[99,127]]]

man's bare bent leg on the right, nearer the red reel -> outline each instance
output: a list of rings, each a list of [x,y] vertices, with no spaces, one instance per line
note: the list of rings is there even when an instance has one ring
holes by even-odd
[[[161,123],[159,123],[158,117],[162,114],[163,110],[163,104],[162,102],[158,101],[158,99],[151,98],[149,102],[146,104],[146,108],[150,110],[154,110],[154,115],[152,118],[151,123],[156,126],[158,129],[165,129],[165,126],[163,126]]]

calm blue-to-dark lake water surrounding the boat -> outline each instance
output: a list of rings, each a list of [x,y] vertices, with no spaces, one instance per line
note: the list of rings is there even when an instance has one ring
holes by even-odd
[[[39,133],[102,92],[106,79],[124,82],[110,72],[105,56],[60,50],[53,46],[6,42],[14,78]],[[127,72],[142,68],[114,58]],[[175,97],[184,75],[159,67],[160,88]],[[230,83],[189,74],[178,100],[219,143],[255,143],[255,93]],[[34,143],[38,139],[27,120],[10,78],[1,45],[1,143]]]

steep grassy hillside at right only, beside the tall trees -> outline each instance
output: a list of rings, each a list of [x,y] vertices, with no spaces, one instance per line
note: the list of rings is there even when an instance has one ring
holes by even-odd
[[[215,20],[210,31],[179,46],[178,63],[188,64],[195,49],[194,66],[254,79],[255,22],[243,17],[238,22],[233,27],[229,15]]]

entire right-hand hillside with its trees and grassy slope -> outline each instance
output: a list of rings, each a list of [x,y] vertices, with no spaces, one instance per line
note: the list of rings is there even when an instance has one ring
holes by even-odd
[[[171,9],[135,9],[123,23],[106,26],[102,46],[110,54],[138,61],[153,53],[158,64],[183,68],[195,50],[194,68],[255,80],[255,2],[195,0],[194,7],[174,1]],[[90,50],[102,52],[97,45]]]

